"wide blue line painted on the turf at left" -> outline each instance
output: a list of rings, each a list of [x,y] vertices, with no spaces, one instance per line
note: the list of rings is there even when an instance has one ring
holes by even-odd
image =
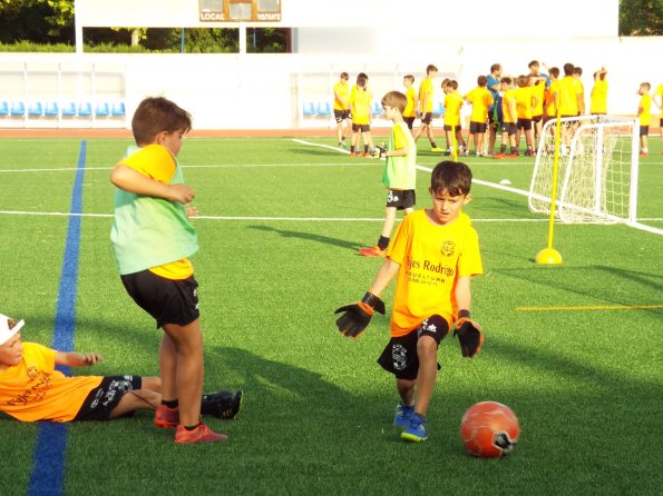
[[[71,214],[82,212],[82,178],[85,175],[86,149],[87,141],[82,140],[80,142],[74,191],[71,192]],[[52,348],[59,351],[71,351],[74,349],[80,222],[80,216],[72,215],[69,217],[51,345]],[[58,367],[58,369],[64,374],[69,373],[69,367]],[[67,424],[51,421],[39,424],[28,495],[56,496],[64,494],[66,448]]]

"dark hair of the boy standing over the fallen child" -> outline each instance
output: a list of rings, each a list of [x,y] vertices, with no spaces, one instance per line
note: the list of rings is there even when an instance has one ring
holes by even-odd
[[[138,146],[153,143],[162,131],[186,133],[191,129],[191,113],[163,97],[144,99],[131,119],[131,131]]]

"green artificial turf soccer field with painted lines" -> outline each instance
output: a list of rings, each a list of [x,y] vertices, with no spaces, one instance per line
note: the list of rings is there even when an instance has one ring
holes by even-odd
[[[105,360],[72,373],[158,375],[160,331],[125,294],[108,239],[108,175],[129,141],[85,143],[81,161],[79,139],[0,140],[0,313],[26,320],[23,340],[51,345],[61,287],[74,286],[74,348]],[[546,219],[523,195],[488,185],[508,179],[527,190],[534,160],[468,158],[478,181],[465,211],[485,269],[472,315],[486,343],[468,360],[455,339],[442,341],[429,440],[403,444],[391,424],[393,378],[376,363],[389,315],[358,340],[340,336],[333,316],[363,295],[380,265],[357,249],[381,228],[381,162],[320,145],[334,140],[191,138],[179,156],[201,215],[192,261],[205,390],[245,391],[235,420],[206,419],[230,442],[176,446],[140,411],[69,424],[66,447],[45,453],[43,426],[3,416],[0,494],[661,494],[663,238],[557,225],[564,264],[537,266]],[[432,167],[440,156],[425,145],[418,162]],[[661,228],[657,137],[650,149],[638,211]],[[84,215],[71,217],[79,162]],[[428,181],[420,170],[418,208],[429,205]],[[64,269],[72,219],[78,252]],[[459,438],[465,409],[486,399],[520,420],[520,443],[505,459],[472,458]],[[58,463],[61,483],[35,475]]]

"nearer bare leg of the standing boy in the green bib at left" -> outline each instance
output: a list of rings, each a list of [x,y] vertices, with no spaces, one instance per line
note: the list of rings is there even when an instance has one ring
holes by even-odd
[[[179,399],[179,424],[195,426],[201,421],[201,396],[203,395],[203,333],[199,320],[186,326],[164,325],[176,349],[177,368],[175,384]],[[164,341],[162,341],[163,344]],[[166,383],[164,377],[164,394]]]

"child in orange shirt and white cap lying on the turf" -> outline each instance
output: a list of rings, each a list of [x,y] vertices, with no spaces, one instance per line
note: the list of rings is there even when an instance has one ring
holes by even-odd
[[[110,420],[159,405],[158,377],[65,376],[55,367],[95,365],[101,356],[23,343],[23,324],[0,315],[0,411],[21,421]],[[201,411],[231,419],[241,405],[242,391],[213,393],[203,396]]]

